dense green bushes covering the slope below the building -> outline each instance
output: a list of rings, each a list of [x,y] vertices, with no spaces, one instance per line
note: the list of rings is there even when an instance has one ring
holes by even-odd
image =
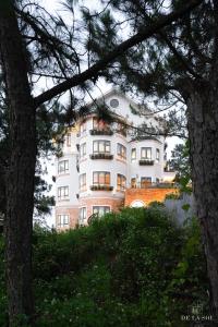
[[[159,203],[63,233],[37,227],[33,250],[36,326],[175,327],[197,298],[207,305],[198,225],[178,228]],[[5,326],[3,261],[0,282]]]

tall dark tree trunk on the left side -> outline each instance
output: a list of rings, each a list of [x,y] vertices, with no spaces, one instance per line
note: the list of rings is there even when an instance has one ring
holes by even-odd
[[[12,0],[0,1],[0,52],[10,99],[11,160],[7,184],[9,324],[33,314],[32,225],[36,158],[35,108]]]

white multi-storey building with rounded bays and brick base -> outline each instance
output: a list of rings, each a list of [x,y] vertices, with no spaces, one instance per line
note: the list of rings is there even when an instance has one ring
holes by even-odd
[[[56,160],[58,229],[85,225],[93,214],[118,210],[126,189],[161,183],[167,177],[164,136],[136,137],[136,130],[130,128],[143,122],[158,126],[161,120],[145,108],[147,116],[133,114],[131,107],[138,105],[118,90],[104,100],[116,122],[106,123],[92,111],[68,130],[62,156]]]

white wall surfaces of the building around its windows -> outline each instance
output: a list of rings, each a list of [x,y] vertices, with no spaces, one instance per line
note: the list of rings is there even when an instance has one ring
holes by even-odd
[[[135,116],[131,112],[130,104],[136,106],[130,99],[124,98],[122,95],[111,94],[106,97],[106,102],[110,105],[111,99],[118,99],[119,106],[113,109],[117,114],[120,114],[128,119],[129,124],[138,125],[142,124],[142,117]],[[154,118],[146,118],[146,123],[148,125],[157,124],[157,120]],[[86,173],[86,192],[80,193],[80,198],[84,197],[100,197],[106,196],[111,197],[123,197],[124,194],[117,192],[117,174],[123,174],[126,177],[126,186],[131,185],[131,178],[138,177],[138,182],[141,177],[150,177],[153,182],[156,182],[156,179],[160,181],[164,179],[164,137],[159,137],[159,141],[156,140],[141,140],[141,141],[131,141],[130,136],[124,137],[119,133],[113,133],[113,135],[90,135],[89,131],[93,129],[93,118],[89,117],[86,121],[86,131],[78,133],[75,129],[71,129],[71,146],[68,147],[63,145],[63,157],[57,159],[57,193],[59,186],[69,185],[69,201],[58,201],[57,196],[57,206],[58,207],[69,207],[69,206],[78,206],[80,199],[77,199],[76,194],[80,193],[78,190],[78,179],[80,175]],[[110,141],[110,150],[113,155],[112,159],[90,159],[93,154],[93,142],[97,140]],[[86,155],[78,160],[80,172],[76,169],[76,161],[78,157],[78,146],[83,143],[86,143]],[[117,155],[117,144],[120,143],[126,147],[126,160],[119,160]],[[141,148],[142,147],[152,147],[152,159],[154,160],[153,166],[140,166],[138,160],[141,159]],[[131,162],[131,149],[136,148],[136,161]],[[156,148],[160,150],[160,160],[156,161]],[[58,174],[58,160],[69,160],[69,173],[68,174]],[[93,172],[94,171],[109,171],[110,172],[110,184],[113,186],[112,192],[95,192],[90,191],[90,185],[93,185]],[[58,195],[58,194],[57,194]]]

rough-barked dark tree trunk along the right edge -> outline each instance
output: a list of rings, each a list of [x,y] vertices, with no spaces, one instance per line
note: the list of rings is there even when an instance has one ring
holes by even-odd
[[[193,190],[207,258],[213,312],[218,317],[218,89],[195,86],[187,100]]]

